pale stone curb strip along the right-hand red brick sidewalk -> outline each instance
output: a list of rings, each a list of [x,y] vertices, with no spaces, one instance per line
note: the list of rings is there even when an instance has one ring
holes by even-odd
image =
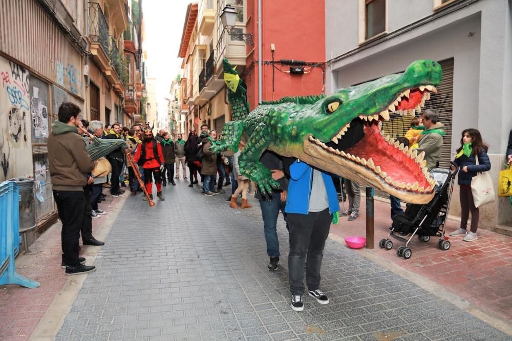
[[[329,233],[329,239],[331,239],[341,245],[345,245],[345,240],[342,237],[338,237],[338,236],[334,235],[333,233]],[[412,273],[406,269],[403,269],[394,263],[386,261],[385,259],[382,259],[382,258],[378,257],[377,255],[373,254],[372,252],[367,251],[365,248],[356,250],[356,252],[358,252],[363,257],[371,260],[372,262],[375,262],[376,264],[382,266],[383,268],[393,271],[394,273],[408,279],[409,281],[413,282],[420,288],[425,289],[425,290],[433,293],[434,295],[442,298],[443,300],[450,302],[457,308],[481,319],[482,321],[487,323],[489,326],[492,326],[492,327],[512,336],[512,323],[507,322],[500,317],[493,316],[492,313],[484,311],[481,308],[479,308],[478,306],[474,305],[473,303],[470,303],[467,300],[461,299],[461,297],[459,297],[458,295],[447,291],[441,285],[439,285],[435,282],[432,282],[431,280],[428,280],[426,278],[423,278],[421,276],[418,276],[417,274]]]

